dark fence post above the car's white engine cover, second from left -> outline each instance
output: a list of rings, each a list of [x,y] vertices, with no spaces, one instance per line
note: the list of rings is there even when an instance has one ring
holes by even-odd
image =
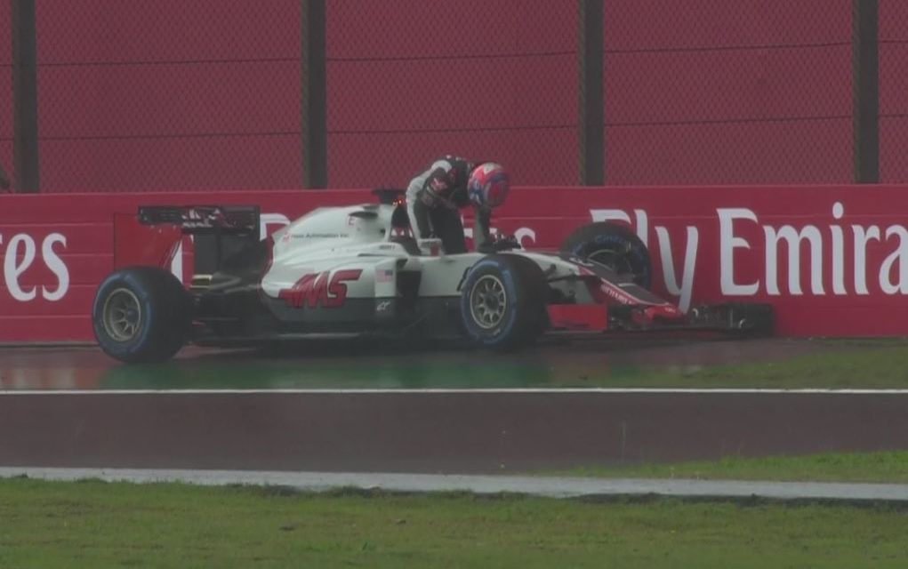
[[[301,0],[303,187],[328,187],[325,0]]]

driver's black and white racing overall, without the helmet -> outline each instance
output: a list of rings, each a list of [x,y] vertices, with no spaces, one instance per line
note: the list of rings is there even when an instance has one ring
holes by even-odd
[[[467,182],[475,164],[456,156],[445,156],[410,181],[407,187],[407,212],[417,239],[435,237],[446,253],[466,253],[467,240],[460,221],[460,208],[468,206]],[[476,250],[491,243],[491,210],[476,209],[473,240]]]

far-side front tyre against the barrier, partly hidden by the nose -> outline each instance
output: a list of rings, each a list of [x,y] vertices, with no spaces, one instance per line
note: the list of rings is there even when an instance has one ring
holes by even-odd
[[[634,282],[649,289],[653,266],[649,250],[637,233],[617,223],[597,221],[568,235],[561,251],[584,260],[593,260],[618,274],[631,275]]]

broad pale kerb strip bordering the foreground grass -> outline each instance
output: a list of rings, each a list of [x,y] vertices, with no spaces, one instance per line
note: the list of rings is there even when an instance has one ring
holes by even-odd
[[[753,496],[793,500],[908,501],[908,485],[842,484],[813,482],[747,482],[655,478],[572,478],[552,476],[469,476],[351,472],[276,472],[243,470],[158,470],[121,468],[0,467],[0,478],[28,476],[43,480],[108,482],[182,482],[202,486],[285,486],[307,492],[341,487],[381,489],[391,492],[453,492],[476,494],[515,492],[568,498],[605,495],[671,495],[688,497]]]

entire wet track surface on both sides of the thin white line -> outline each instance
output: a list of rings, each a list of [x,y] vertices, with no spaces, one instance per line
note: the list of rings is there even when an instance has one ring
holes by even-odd
[[[615,341],[489,356],[309,345],[191,349],[130,367],[95,348],[4,348],[0,466],[492,473],[908,448],[908,395],[576,388],[640,367],[817,349],[828,347]]]

